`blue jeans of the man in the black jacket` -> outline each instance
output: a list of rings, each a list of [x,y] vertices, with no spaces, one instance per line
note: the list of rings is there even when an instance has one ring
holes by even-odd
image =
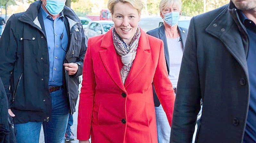
[[[45,143],[64,143],[68,124],[69,106],[63,89],[51,93],[52,114],[49,122],[15,124],[17,143],[38,143],[43,125]]]

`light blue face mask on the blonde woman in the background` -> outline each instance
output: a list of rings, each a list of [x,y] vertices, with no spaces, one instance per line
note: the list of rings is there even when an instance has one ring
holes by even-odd
[[[173,12],[164,14],[164,21],[170,26],[174,26],[174,25],[178,24],[179,11],[173,11]]]

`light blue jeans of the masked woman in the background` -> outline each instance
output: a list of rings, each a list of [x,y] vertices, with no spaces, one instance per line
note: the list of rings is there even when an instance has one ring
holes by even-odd
[[[158,143],[170,143],[171,127],[161,104],[155,112]]]

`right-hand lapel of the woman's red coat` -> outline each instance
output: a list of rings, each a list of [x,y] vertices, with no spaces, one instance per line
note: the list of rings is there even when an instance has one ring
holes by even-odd
[[[136,57],[133,61],[130,73],[125,81],[125,87],[127,87],[145,67],[150,57],[150,46],[146,33],[141,29],[141,36],[137,48]]]

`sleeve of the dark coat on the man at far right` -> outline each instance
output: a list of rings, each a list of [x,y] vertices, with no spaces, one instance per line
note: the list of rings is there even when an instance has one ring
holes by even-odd
[[[196,116],[200,110],[201,94],[195,39],[194,18],[192,18],[177,85],[171,143],[190,143],[192,141]]]

